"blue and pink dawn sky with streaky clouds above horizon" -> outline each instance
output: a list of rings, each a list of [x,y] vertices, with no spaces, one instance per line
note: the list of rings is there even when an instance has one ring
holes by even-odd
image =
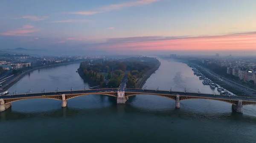
[[[1,0],[0,49],[256,52],[256,0]]]

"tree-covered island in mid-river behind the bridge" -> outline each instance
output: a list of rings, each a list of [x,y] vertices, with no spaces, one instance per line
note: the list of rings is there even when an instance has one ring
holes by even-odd
[[[79,75],[91,85],[116,88],[127,74],[127,88],[141,88],[160,62],[151,57],[96,59],[81,62]]]

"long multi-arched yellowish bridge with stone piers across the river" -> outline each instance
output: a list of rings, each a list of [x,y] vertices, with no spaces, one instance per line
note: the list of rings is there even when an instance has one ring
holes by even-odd
[[[217,101],[227,102],[232,104],[232,108],[239,113],[243,113],[244,105],[255,105],[256,97],[244,97],[244,96],[227,96],[227,95],[213,95],[205,93],[189,93],[178,91],[166,91],[166,90],[148,90],[148,89],[135,89],[125,88],[119,90],[119,88],[104,88],[93,90],[70,90],[70,91],[55,91],[55,92],[42,92],[42,93],[29,93],[29,94],[17,94],[17,95],[4,95],[0,96],[0,112],[11,107],[12,102],[20,101],[30,98],[49,98],[61,101],[61,107],[67,106],[67,101],[83,95],[108,95],[116,98],[117,104],[125,104],[130,96],[134,95],[156,95],[169,98],[175,101],[175,107],[180,108],[180,101],[190,99],[211,99]]]

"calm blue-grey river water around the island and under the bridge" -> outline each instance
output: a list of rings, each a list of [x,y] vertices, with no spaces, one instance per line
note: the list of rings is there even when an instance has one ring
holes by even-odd
[[[160,59],[161,66],[146,81],[147,88],[212,93],[186,64]],[[79,77],[79,64],[35,70],[9,91],[25,93],[89,88]],[[172,123],[173,122],[173,123]],[[175,101],[137,95],[116,105],[105,95],[85,95],[68,101],[28,99],[0,113],[1,143],[256,143],[256,107],[244,114],[231,104],[194,99]]]

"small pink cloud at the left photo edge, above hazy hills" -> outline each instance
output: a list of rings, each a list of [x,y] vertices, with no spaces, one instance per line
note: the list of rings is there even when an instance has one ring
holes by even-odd
[[[17,28],[14,31],[7,31],[4,33],[0,33],[0,35],[5,36],[32,36],[31,33],[39,31],[39,28],[35,28],[32,25],[23,25],[22,28]]]

